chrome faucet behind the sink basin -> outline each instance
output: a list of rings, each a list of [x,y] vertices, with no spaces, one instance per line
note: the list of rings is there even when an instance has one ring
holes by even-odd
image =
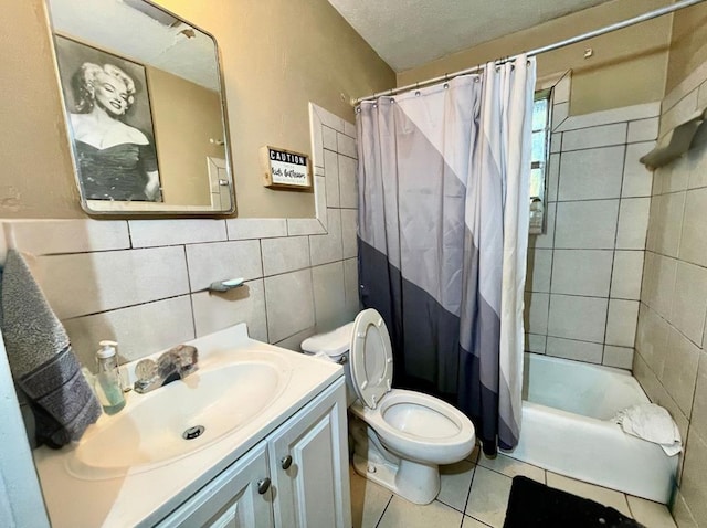
[[[199,368],[196,347],[179,345],[162,353],[157,361],[144,359],[135,366],[135,392],[145,394],[172,381],[184,379]]]

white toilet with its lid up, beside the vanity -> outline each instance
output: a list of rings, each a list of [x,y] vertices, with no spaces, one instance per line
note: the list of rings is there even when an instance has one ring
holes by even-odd
[[[392,389],[392,347],[380,314],[366,309],[354,323],[305,339],[302,349],[345,367],[356,473],[411,503],[434,500],[439,466],[468,456],[474,425],[437,398]]]

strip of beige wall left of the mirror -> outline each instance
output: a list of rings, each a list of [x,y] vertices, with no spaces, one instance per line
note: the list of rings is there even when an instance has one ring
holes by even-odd
[[[0,217],[83,217],[42,3],[3,9]]]

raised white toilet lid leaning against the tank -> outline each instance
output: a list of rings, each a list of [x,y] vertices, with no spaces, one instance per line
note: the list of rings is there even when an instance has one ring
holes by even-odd
[[[361,311],[351,335],[351,380],[361,402],[376,409],[393,378],[393,353],[383,318],[374,309]]]

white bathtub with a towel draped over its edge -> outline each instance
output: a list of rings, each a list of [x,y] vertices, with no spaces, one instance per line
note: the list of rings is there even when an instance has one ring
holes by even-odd
[[[648,403],[629,372],[526,353],[520,441],[508,456],[666,504],[678,455],[625,434],[610,419]]]

